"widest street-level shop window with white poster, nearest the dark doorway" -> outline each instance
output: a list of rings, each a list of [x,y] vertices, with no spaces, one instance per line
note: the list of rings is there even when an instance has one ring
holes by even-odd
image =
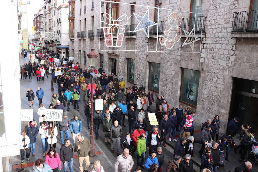
[[[196,107],[199,88],[200,71],[182,68],[179,101]]]

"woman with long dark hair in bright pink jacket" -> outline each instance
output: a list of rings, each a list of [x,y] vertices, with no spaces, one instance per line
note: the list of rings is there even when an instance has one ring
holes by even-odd
[[[53,172],[58,171],[58,166],[59,166],[59,170],[62,169],[60,157],[54,147],[49,149],[46,156],[46,163],[51,167]]]

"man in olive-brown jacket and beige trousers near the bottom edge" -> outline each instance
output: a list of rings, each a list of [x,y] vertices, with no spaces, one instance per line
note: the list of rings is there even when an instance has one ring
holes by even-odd
[[[86,165],[84,167],[84,171],[88,172],[89,167],[89,151],[91,148],[91,144],[87,138],[84,138],[82,135],[78,135],[77,140],[74,144],[73,150],[78,153],[79,160],[79,171],[83,172],[83,161],[85,161]]]

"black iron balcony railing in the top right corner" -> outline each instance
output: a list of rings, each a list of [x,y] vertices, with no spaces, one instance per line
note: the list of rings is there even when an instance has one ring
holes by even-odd
[[[234,13],[232,32],[257,32],[257,31],[258,31],[258,9]]]

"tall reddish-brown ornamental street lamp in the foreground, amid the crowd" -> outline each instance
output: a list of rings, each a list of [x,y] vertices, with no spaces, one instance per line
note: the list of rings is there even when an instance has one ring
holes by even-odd
[[[98,54],[94,52],[95,49],[91,49],[91,52],[87,54],[89,59],[89,67],[93,69],[93,67],[96,66],[96,61]],[[90,155],[89,156],[95,156],[95,146],[94,146],[94,137],[95,133],[93,130],[93,76],[91,76],[91,133],[90,133],[90,143],[91,143],[91,149],[90,149]]]

